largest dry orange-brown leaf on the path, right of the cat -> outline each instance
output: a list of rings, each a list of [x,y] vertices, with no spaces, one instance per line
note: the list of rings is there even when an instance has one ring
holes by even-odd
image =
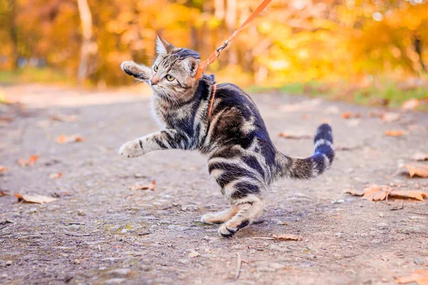
[[[382,201],[388,199],[388,197],[394,198],[410,198],[417,199],[419,201],[424,201],[427,198],[427,193],[421,191],[406,191],[406,190],[397,190],[390,187],[389,185],[370,185],[365,188],[365,190],[354,190],[349,189],[345,191],[355,196],[362,196],[364,199],[369,201]]]

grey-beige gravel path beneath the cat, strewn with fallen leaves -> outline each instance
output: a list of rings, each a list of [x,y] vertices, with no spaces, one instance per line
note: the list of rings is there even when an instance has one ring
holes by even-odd
[[[386,123],[378,116],[386,110],[254,95],[282,152],[311,155],[311,139],[278,134],[312,135],[327,121],[337,155],[317,179],[275,182],[258,223],[227,239],[217,225],[198,222],[227,207],[205,157],[181,150],[118,155],[123,142],[158,130],[148,96],[45,86],[4,92],[26,104],[0,109],[11,119],[0,127],[0,165],[8,167],[1,190],[58,199],[29,204],[0,197],[1,284],[395,284],[394,277],[428,269],[427,202],[388,205],[345,194],[371,183],[428,192],[428,179],[404,170],[390,176],[415,152],[427,151],[427,113],[400,113]],[[360,118],[341,118],[348,111]],[[64,114],[77,121],[50,119]],[[404,135],[387,137],[385,130]],[[56,142],[74,134],[83,142]],[[17,163],[30,155],[40,156],[36,165]],[[63,176],[49,178],[56,172]],[[128,189],[152,180],[154,191]],[[302,240],[257,239],[273,234]]]

